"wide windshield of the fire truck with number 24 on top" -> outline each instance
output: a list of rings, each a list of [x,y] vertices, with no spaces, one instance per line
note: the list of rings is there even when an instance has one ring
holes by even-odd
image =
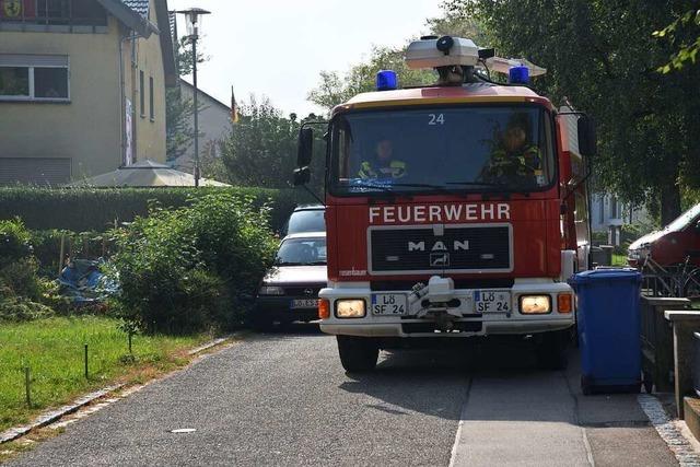
[[[535,106],[421,107],[331,122],[334,195],[537,191],[555,176],[552,124]]]

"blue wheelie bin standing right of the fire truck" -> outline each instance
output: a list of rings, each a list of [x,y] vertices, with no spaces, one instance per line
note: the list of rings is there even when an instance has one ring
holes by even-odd
[[[637,392],[641,387],[639,295],[635,269],[595,269],[573,276],[581,351],[581,388]]]

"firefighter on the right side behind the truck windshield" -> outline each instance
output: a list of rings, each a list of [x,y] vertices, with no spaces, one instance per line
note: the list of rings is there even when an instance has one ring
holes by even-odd
[[[489,182],[542,182],[541,153],[528,138],[527,115],[513,115],[485,167],[483,178]]]

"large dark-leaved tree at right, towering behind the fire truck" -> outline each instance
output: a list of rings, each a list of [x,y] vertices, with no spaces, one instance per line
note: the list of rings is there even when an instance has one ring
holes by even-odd
[[[632,202],[658,199],[665,224],[680,212],[681,186],[700,182],[700,94],[692,92],[700,77],[697,67],[658,73],[670,49],[652,32],[691,3],[447,0],[444,7],[480,22],[499,55],[546,67],[535,89],[555,104],[568,96],[598,121],[598,180]]]

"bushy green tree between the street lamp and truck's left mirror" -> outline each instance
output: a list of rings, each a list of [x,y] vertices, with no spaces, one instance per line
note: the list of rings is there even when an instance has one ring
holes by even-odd
[[[296,143],[302,121],[284,117],[268,98],[250,96],[240,109],[240,121],[222,143],[229,179],[236,185],[288,188],[296,167]],[[306,119],[315,119],[312,114]],[[306,120],[305,119],[305,120]],[[323,186],[323,148],[315,144],[312,187]]]

